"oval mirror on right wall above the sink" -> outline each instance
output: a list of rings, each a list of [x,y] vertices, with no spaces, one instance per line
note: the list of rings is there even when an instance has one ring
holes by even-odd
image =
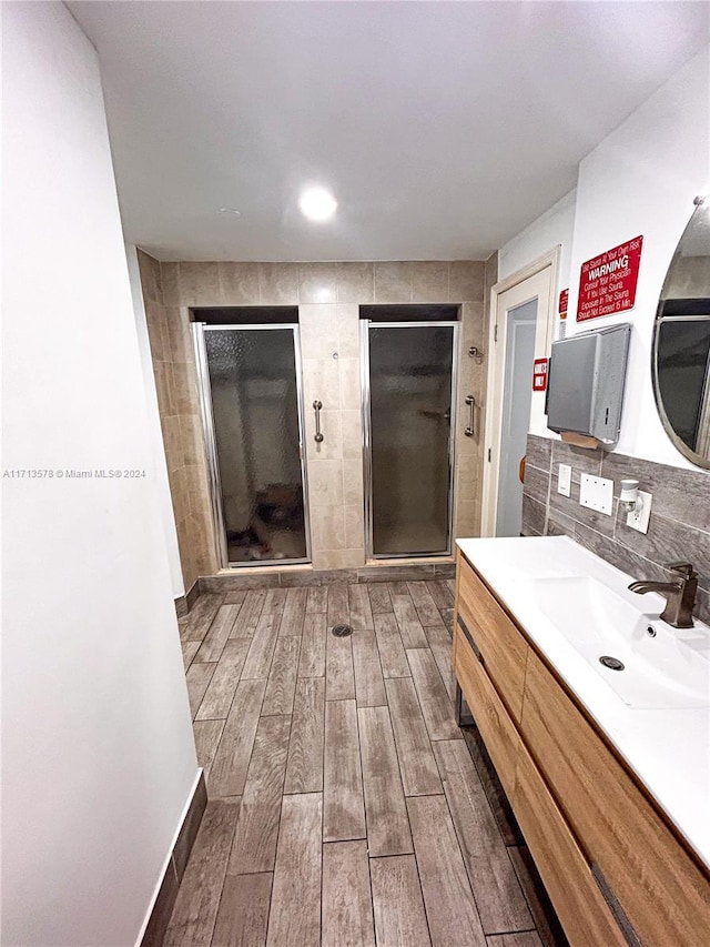
[[[668,436],[710,469],[710,198],[696,204],[661,290],[652,373]]]

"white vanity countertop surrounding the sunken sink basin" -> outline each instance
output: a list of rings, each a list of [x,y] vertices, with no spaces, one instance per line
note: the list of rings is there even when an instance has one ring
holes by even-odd
[[[619,595],[633,596],[627,592],[629,582],[647,576],[627,575],[568,536],[458,540],[457,545],[710,867],[710,708],[628,706],[530,594],[530,580],[584,575],[598,578]],[[651,593],[643,598],[642,607],[657,619],[660,597]],[[696,624],[696,628],[671,631],[710,661],[710,629]]]

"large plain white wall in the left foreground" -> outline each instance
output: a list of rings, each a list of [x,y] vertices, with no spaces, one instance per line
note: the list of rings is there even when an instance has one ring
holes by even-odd
[[[2,943],[133,944],[197,774],[94,50],[4,3]]]

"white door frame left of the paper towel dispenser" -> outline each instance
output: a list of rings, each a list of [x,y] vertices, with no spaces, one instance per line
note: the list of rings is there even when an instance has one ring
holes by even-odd
[[[498,480],[500,473],[500,447],[503,406],[506,380],[506,349],[507,349],[507,319],[505,312],[514,306],[523,305],[530,300],[544,301],[547,294],[545,312],[540,311],[538,303],[537,325],[535,333],[535,357],[549,359],[550,346],[555,332],[555,319],[557,315],[557,290],[559,285],[559,258],[561,245],[558,244],[548,253],[539,256],[532,263],[521,270],[506,276],[496,283],[490,290],[490,323],[488,326],[488,377],[486,411],[484,423],[484,465],[483,465],[483,491],[481,491],[481,515],[480,535],[496,535],[496,520],[498,514]],[[528,285],[526,285],[526,283]],[[540,293],[542,289],[542,294]],[[507,305],[501,303],[501,296],[517,290],[513,294],[513,302]],[[518,299],[519,296],[519,299]],[[532,385],[532,366],[530,366],[530,386]],[[539,392],[532,393],[531,404],[545,395]]]

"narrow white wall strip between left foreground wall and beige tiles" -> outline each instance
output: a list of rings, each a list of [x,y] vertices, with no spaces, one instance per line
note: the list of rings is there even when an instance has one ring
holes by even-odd
[[[153,487],[158,503],[160,504],[161,520],[163,524],[163,536],[165,540],[165,552],[170,568],[170,580],[173,588],[173,597],[180,598],[185,594],[185,585],[182,581],[182,567],[180,565],[180,547],[178,546],[178,530],[175,528],[175,514],[170,495],[170,480],[168,478],[168,463],[165,462],[165,445],[163,432],[160,426],[160,412],[158,407],[158,394],[155,392],[155,375],[153,373],[153,360],[151,357],[151,343],[148,335],[148,322],[145,321],[145,304],[143,302],[143,289],[141,286],[141,272],[138,265],[138,251],[132,244],[125,245],[125,256],[129,264],[129,280],[131,282],[131,298],[133,300],[133,312],[135,315],[135,332],[138,345],[141,353],[141,369],[143,373],[143,387],[145,391],[146,419],[151,437],[151,453],[153,457]]]

